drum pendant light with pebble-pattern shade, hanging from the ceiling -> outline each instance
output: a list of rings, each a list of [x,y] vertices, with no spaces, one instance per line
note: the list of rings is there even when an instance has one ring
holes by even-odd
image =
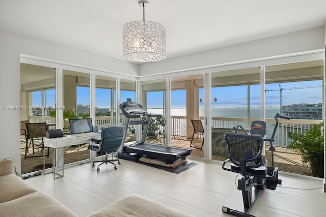
[[[145,1],[140,2],[146,7]],[[146,2],[145,2],[146,3]],[[148,4],[147,4],[148,6]],[[165,27],[157,22],[133,21],[123,26],[123,57],[129,61],[146,63],[166,58]]]

